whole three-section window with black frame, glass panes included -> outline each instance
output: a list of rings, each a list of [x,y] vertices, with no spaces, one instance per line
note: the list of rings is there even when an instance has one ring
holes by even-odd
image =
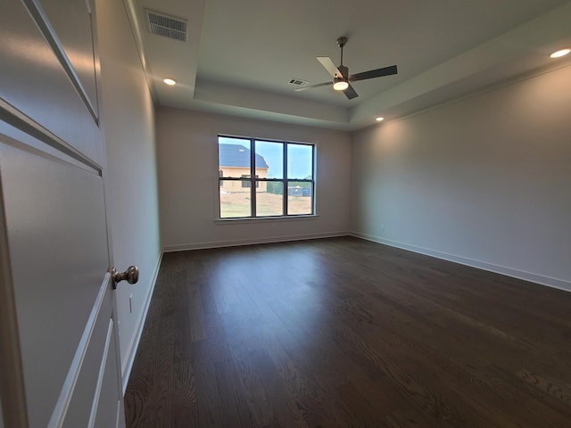
[[[219,136],[220,218],[313,215],[315,146]]]

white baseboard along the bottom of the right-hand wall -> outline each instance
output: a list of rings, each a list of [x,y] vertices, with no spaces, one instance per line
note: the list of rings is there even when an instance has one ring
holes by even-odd
[[[435,257],[437,259],[449,260],[455,263],[459,263],[460,265],[466,265],[472,268],[488,270],[490,272],[495,272],[497,274],[512,276],[514,278],[523,279],[525,281],[530,281],[535,284],[542,284],[548,287],[564,290],[566,292],[571,292],[571,282],[566,281],[564,279],[553,278],[550,276],[534,274],[533,272],[525,272],[524,270],[494,265],[492,263],[488,263],[482,260],[468,259],[466,257],[456,256],[454,254],[449,254],[443,251],[431,250],[424,247],[418,247],[417,245],[410,245],[408,243],[399,243],[397,241],[392,241],[390,239],[379,238],[378,236],[360,234],[357,232],[352,232],[350,235],[356,238],[366,239],[374,243],[383,243],[391,247],[401,248],[402,250],[414,251],[420,254],[425,254],[427,256]]]

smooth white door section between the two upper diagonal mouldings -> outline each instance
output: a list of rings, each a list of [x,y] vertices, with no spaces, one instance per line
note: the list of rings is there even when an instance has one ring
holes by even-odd
[[[46,42],[19,0],[0,4],[0,98],[102,164],[99,128],[54,53],[57,46]]]

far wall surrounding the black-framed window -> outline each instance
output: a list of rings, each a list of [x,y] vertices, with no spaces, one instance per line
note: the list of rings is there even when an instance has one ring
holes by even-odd
[[[317,143],[318,218],[216,222],[219,133]],[[318,128],[159,109],[163,248],[185,250],[345,235],[350,222],[351,138]]]

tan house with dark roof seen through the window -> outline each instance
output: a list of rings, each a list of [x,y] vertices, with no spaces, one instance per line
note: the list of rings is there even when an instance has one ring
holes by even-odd
[[[250,149],[244,145],[219,144],[219,177],[250,178]],[[268,163],[260,154],[255,155],[256,177],[268,177]],[[225,192],[249,192],[250,181],[219,180],[220,190]],[[256,184],[258,192],[266,192],[267,183]]]

